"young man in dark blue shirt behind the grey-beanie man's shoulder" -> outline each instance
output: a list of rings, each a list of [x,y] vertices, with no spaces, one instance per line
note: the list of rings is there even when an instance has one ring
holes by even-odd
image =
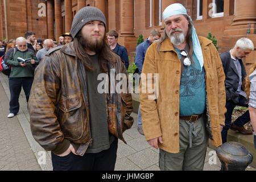
[[[125,68],[128,69],[129,59],[128,59],[127,49],[123,46],[120,46],[117,43],[117,39],[118,39],[118,33],[114,30],[109,31],[108,42],[109,42],[110,49],[118,53],[121,59],[125,61]]]

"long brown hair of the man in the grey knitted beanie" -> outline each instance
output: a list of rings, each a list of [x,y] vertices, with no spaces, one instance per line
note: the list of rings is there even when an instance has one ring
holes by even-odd
[[[84,44],[82,43],[83,38],[81,31],[75,36],[73,40],[73,46],[77,57],[82,61],[85,66],[86,71],[94,72],[92,60],[90,59],[88,53],[85,51]],[[98,64],[100,65],[100,71],[106,73],[108,71],[109,62],[113,60],[113,54],[110,47],[105,41],[105,35],[103,40],[103,46],[98,53]]]

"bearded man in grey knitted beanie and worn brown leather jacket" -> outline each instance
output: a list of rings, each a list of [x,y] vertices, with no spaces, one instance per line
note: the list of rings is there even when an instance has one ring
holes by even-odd
[[[105,31],[104,14],[82,8],[73,19],[73,42],[51,49],[36,68],[31,131],[51,151],[53,170],[114,170],[117,138],[125,142],[122,133],[133,125],[131,94],[109,92],[117,84],[112,77],[127,72]]]

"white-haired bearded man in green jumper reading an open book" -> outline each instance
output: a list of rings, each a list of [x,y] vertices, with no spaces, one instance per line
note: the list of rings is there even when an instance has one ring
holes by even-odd
[[[8,118],[14,117],[19,112],[19,94],[23,88],[26,100],[30,96],[30,90],[34,79],[35,63],[38,63],[35,53],[27,48],[27,40],[23,37],[16,39],[16,48],[6,52],[5,63],[11,66],[9,76],[10,89],[10,113]],[[23,59],[23,60],[22,60]],[[26,60],[26,62],[24,61]]]

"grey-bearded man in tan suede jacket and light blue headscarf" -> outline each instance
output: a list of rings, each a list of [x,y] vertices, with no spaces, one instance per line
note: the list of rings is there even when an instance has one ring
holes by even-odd
[[[150,90],[154,77],[141,81],[144,135],[160,148],[161,170],[203,170],[208,138],[216,147],[222,144],[225,74],[217,49],[197,36],[183,5],[168,6],[163,19],[163,36],[147,49],[142,68],[159,78],[158,93],[141,91]]]

